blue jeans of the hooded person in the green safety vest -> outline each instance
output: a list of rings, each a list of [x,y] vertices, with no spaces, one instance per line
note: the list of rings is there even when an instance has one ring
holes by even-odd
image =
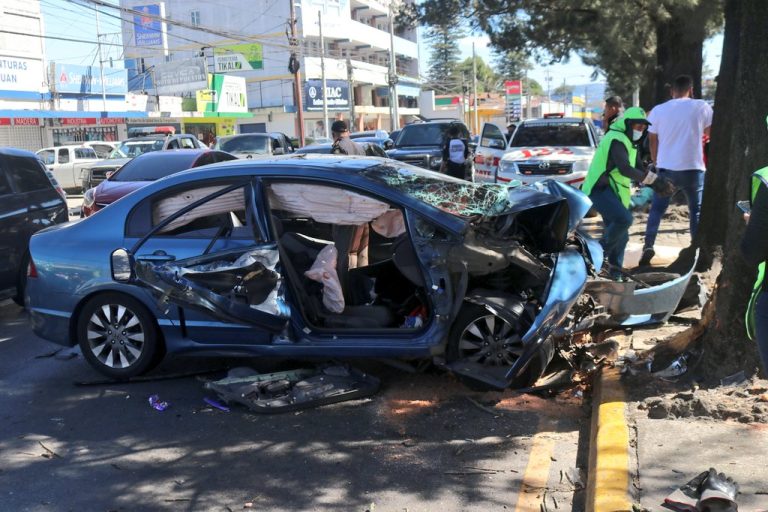
[[[603,246],[608,263],[621,268],[624,264],[624,249],[629,242],[629,226],[632,214],[621,203],[621,199],[611,187],[596,188],[589,195],[595,209],[603,217]]]

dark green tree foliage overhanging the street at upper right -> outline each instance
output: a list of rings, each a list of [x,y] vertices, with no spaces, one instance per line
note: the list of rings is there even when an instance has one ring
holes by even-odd
[[[614,93],[641,87],[651,106],[676,75],[701,78],[705,37],[722,23],[722,0],[426,0],[422,22],[460,10],[500,52],[539,62],[564,62],[572,53],[594,66]]]

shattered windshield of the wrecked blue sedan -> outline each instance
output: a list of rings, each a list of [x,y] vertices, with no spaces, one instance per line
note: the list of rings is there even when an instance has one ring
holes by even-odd
[[[472,183],[425,169],[390,163],[365,169],[361,174],[461,217],[501,215],[510,207],[508,185]]]

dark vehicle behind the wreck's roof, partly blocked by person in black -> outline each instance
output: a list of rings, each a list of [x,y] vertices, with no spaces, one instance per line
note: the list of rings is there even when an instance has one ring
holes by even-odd
[[[469,140],[469,129],[461,121],[427,121],[406,125],[400,131],[393,149],[387,151],[390,158],[433,171],[443,163],[443,142],[451,126],[459,128],[461,138]],[[467,177],[471,178],[472,158],[467,161]]]

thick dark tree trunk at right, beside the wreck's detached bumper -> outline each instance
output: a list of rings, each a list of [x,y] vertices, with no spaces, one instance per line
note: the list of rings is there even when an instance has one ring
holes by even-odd
[[[702,345],[702,370],[713,377],[740,369],[751,373],[759,367],[755,344],[747,339],[743,320],[756,269],[748,268],[739,252],[744,220],[735,203],[749,197],[752,172],[768,163],[768,95],[764,92],[768,9],[763,0],[728,0],[725,14],[710,169],[697,237],[705,254],[717,242],[724,247],[715,322]]]

